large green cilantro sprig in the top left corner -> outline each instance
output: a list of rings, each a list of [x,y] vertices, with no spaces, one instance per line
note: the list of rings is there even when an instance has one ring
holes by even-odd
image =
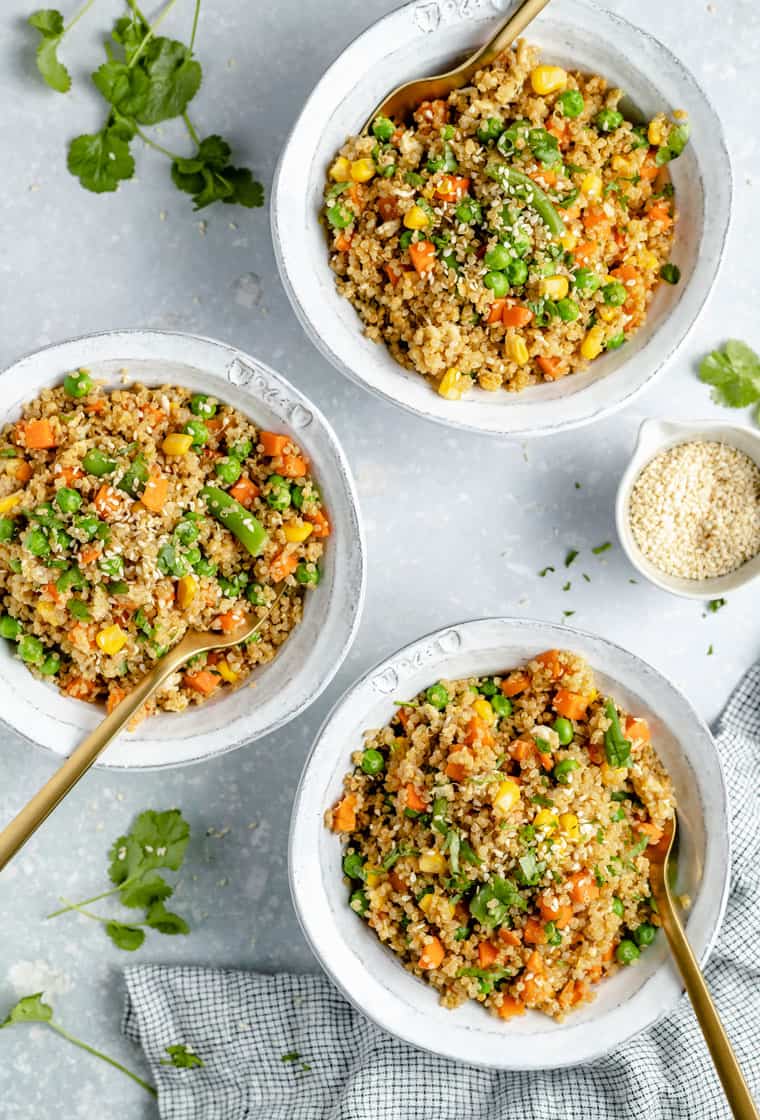
[[[201,138],[188,115],[188,106],[203,82],[203,69],[194,56],[200,0],[195,0],[193,29],[188,45],[157,35],[175,7],[168,0],[150,24],[137,0],[126,0],[126,15],[115,20],[111,39],[105,43],[105,62],[92,74],[92,81],[109,106],[97,132],[75,137],[68,148],[67,167],[87,190],[96,194],[116,190],[134,175],[131,144],[135,139],[171,161],[175,186],[189,194],[195,209],[223,202],[240,206],[262,206],[264,189],[251,170],[237,167],[232,149],[221,136]],[[58,93],[67,93],[72,78],[58,58],[66,35],[90,10],[87,2],[69,20],[55,8],[32,12],[29,24],[39,31],[37,68],[44,81]],[[193,144],[188,155],[170,151],[146,132],[146,127],[181,119]]]

